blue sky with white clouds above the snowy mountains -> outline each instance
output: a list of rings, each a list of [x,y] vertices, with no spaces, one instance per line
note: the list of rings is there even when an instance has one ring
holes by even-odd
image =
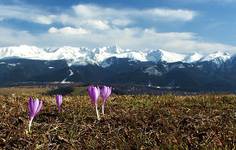
[[[1,0],[0,46],[236,52],[236,0]]]

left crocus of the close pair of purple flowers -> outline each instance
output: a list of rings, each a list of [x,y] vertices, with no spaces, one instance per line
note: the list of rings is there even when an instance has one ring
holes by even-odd
[[[95,105],[97,118],[98,118],[98,120],[100,120],[100,115],[99,115],[99,112],[98,112],[98,98],[99,98],[99,95],[100,95],[99,87],[89,86],[88,87],[88,95],[91,98],[92,104]]]

